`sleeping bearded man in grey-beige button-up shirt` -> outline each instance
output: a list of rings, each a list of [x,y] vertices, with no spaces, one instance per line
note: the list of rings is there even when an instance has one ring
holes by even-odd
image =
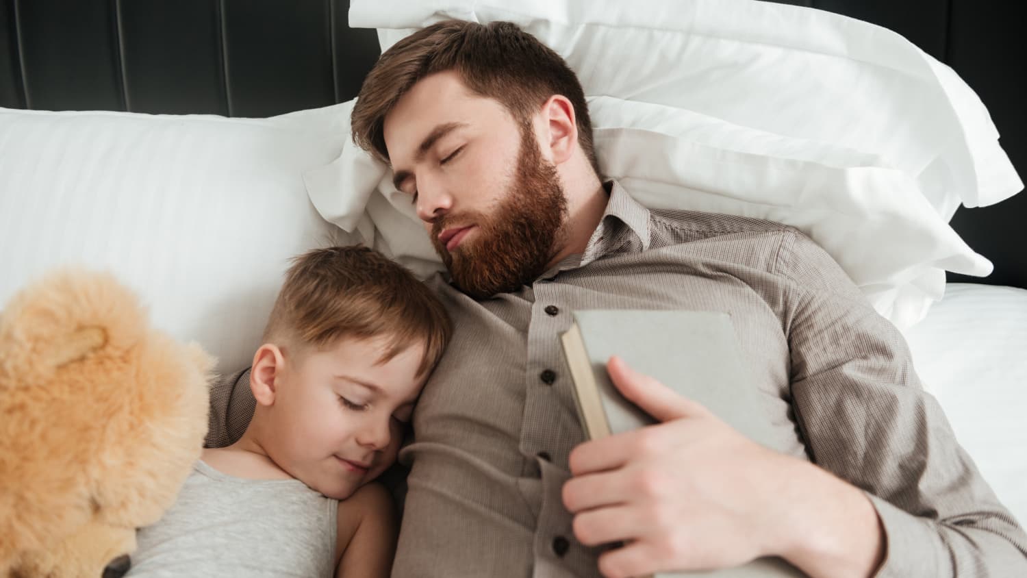
[[[657,214],[604,183],[580,84],[530,35],[415,33],[368,76],[352,127],[429,229],[456,329],[401,455],[393,575],[762,555],[810,576],[1027,575],[1027,536],[838,265],[794,229]],[[587,308],[729,312],[773,451],[617,359],[614,382],[662,423],[583,442],[559,336]]]

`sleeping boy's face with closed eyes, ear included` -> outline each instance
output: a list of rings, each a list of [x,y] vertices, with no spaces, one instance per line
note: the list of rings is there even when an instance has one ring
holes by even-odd
[[[378,364],[381,339],[343,339],[324,351],[287,358],[275,377],[264,440],[293,477],[335,499],[349,497],[395,461],[403,429],[426,376],[420,344]]]

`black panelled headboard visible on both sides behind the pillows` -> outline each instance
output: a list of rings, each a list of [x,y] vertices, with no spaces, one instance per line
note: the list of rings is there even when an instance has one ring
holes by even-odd
[[[674,0],[668,0],[674,1]],[[782,0],[890,28],[951,66],[991,112],[1027,178],[1019,2]],[[356,95],[378,55],[348,0],[0,0],[0,106],[269,116]],[[1027,195],[961,208],[953,227],[1027,287]]]

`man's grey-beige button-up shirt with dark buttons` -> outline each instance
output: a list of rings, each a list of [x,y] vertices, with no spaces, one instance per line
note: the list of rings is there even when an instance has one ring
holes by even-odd
[[[601,308],[730,313],[772,416],[765,444],[871,496],[887,535],[880,576],[1027,576],[1027,535],[921,388],[901,334],[821,247],[776,223],[651,211],[610,191],[584,254],[531,286],[476,301],[430,281],[456,331],[401,453],[412,469],[393,576],[599,575],[601,550],[574,539],[561,500],[584,435],[560,335],[571,311]],[[225,383],[215,436],[231,419]],[[232,413],[244,423],[252,403]]]

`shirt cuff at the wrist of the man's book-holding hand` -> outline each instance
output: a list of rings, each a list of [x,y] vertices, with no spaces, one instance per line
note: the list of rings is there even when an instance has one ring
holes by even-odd
[[[936,524],[872,494],[867,497],[884,527],[884,561],[874,578],[952,576],[952,566]]]

